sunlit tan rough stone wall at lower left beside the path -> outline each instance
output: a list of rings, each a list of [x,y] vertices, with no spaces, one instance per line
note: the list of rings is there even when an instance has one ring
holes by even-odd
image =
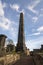
[[[12,62],[16,62],[17,60],[20,59],[20,55],[18,54],[9,54],[9,55],[6,55],[4,57],[0,57],[0,64],[2,65],[8,65]]]

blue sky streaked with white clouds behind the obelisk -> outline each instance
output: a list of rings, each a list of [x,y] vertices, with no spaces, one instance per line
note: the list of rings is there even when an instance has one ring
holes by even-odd
[[[21,12],[25,44],[30,50],[38,49],[43,44],[43,0],[0,0],[0,34],[17,44]]]

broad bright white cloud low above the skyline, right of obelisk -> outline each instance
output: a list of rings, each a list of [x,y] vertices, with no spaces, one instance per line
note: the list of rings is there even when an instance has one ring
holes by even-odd
[[[30,50],[38,49],[43,44],[43,37],[38,37],[37,39],[30,39],[26,41],[26,46]]]

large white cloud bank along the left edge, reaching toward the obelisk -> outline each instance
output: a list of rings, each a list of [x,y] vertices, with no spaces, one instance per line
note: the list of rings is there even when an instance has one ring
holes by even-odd
[[[15,21],[11,21],[10,19],[4,16],[4,8],[7,7],[6,3],[1,2],[0,0],[0,30],[4,32],[0,32],[1,34],[5,34],[8,37],[11,36],[13,39],[16,39],[17,35],[17,25]],[[8,31],[8,33],[6,33]]]

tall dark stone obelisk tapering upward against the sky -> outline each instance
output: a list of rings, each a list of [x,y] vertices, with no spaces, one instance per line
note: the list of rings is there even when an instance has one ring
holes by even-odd
[[[25,51],[25,36],[24,36],[24,18],[23,13],[20,13],[20,21],[19,21],[19,31],[18,31],[18,42],[16,46],[16,51]]]

